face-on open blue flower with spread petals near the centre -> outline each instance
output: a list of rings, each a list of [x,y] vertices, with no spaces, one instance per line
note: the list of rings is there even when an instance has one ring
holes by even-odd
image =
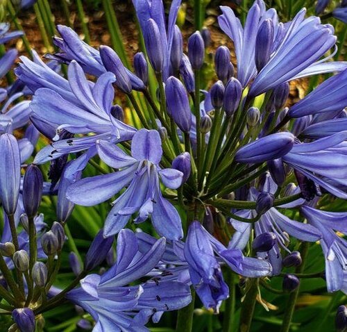
[[[100,140],[97,149],[101,160],[118,172],[77,181],[67,190],[67,198],[75,204],[93,206],[128,188],[116,199],[105,220],[104,235],[118,233],[126,226],[133,213],[135,222],[144,222],[150,215],[153,226],[170,240],[183,237],[180,217],[174,206],[162,197],[160,181],[168,188],[180,187],[183,173],[177,169],[161,169],[161,140],[158,131],[141,129],[131,143],[131,154],[110,142]],[[90,195],[85,195],[90,192]]]

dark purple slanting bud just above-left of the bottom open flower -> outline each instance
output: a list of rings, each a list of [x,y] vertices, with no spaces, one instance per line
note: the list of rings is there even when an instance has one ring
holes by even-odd
[[[113,240],[113,236],[110,238],[103,237],[103,229],[96,234],[85,255],[84,270],[86,272],[94,269],[94,267],[100,265],[105,260],[110,247],[112,247]]]

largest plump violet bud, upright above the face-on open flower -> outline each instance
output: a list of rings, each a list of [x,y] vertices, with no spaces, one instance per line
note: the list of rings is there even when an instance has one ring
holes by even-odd
[[[181,131],[188,132],[192,126],[192,112],[189,106],[187,90],[178,78],[170,76],[165,85],[167,113]]]

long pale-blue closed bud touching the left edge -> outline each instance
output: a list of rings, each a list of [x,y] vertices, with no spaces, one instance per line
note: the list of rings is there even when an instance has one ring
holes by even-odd
[[[1,202],[8,215],[15,213],[21,182],[21,159],[15,136],[0,136],[0,193]]]

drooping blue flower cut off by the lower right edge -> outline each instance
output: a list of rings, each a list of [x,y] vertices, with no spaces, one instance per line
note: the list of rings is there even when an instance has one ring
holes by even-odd
[[[302,206],[307,222],[319,229],[325,257],[325,280],[328,292],[342,290],[347,293],[347,242],[336,231],[346,234],[347,213],[328,212]]]

